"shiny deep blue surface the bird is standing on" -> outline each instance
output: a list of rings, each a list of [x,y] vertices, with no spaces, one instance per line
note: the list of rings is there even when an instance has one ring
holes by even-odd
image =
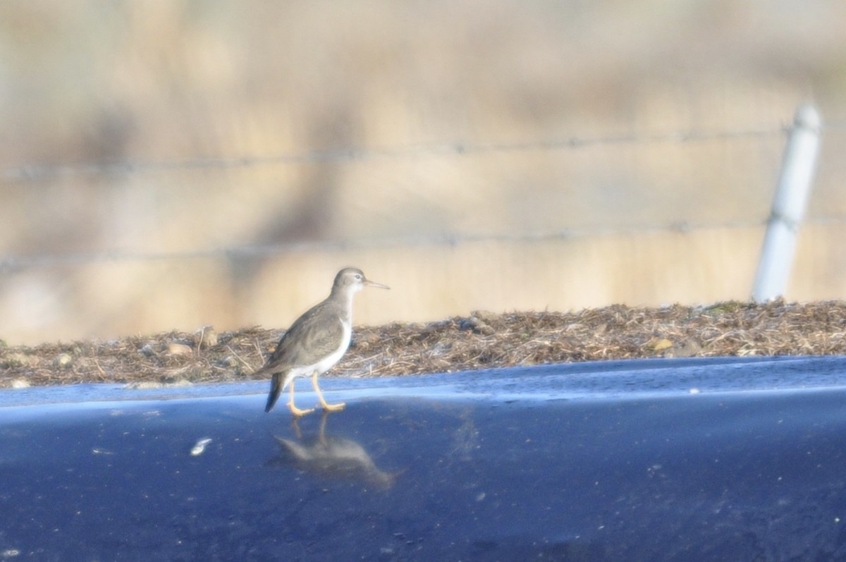
[[[846,559],[844,358],[266,384],[3,391],[0,555]]]

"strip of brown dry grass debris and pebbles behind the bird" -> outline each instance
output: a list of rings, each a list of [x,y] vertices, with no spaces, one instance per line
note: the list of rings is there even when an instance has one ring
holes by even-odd
[[[0,387],[248,380],[282,334],[206,327],[34,347],[0,342]],[[327,374],[385,377],[645,357],[839,354],[846,354],[841,301],[615,305],[578,312],[476,311],[441,322],[360,327],[347,355]]]

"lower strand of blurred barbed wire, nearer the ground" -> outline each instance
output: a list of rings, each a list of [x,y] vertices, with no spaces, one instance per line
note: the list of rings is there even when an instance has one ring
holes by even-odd
[[[47,254],[35,256],[5,256],[0,258],[0,274],[18,273],[40,267],[80,266],[103,262],[162,262],[190,261],[201,259],[225,259],[231,261],[254,260],[268,256],[278,256],[312,251],[350,251],[381,249],[393,246],[477,244],[485,242],[521,243],[554,240],[577,240],[591,237],[623,236],[627,234],[648,234],[654,232],[675,232],[686,234],[706,229],[742,229],[766,226],[767,219],[726,221],[722,223],[673,222],[658,225],[629,225],[620,227],[585,227],[581,229],[563,229],[547,232],[528,232],[520,234],[431,234],[399,236],[371,240],[310,240],[300,242],[280,242],[274,244],[246,244],[228,247],[205,248],[186,251],[91,251],[65,254]],[[805,223],[846,223],[846,217],[828,215],[820,218],[807,218]],[[762,233],[763,234],[763,233]]]

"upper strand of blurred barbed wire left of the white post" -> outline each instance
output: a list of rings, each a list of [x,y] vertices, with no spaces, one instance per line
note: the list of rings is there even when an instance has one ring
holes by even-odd
[[[74,175],[125,175],[170,172],[208,168],[249,168],[254,166],[284,166],[303,163],[358,162],[378,159],[443,157],[483,154],[487,152],[563,151],[591,146],[622,144],[655,144],[662,142],[700,142],[720,139],[739,139],[784,135],[788,124],[760,129],[704,130],[689,129],[668,133],[611,135],[598,137],[573,136],[538,141],[465,143],[444,141],[412,145],[372,148],[347,147],[329,150],[291,152],[269,156],[197,157],[172,161],[120,160],[100,163],[25,164],[6,168],[0,173],[6,181],[43,181]]]

